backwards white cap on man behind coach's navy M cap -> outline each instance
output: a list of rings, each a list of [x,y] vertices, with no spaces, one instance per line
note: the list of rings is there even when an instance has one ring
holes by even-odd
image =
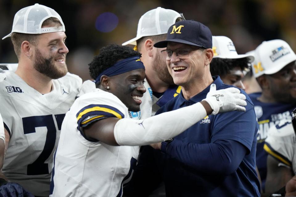
[[[137,45],[137,40],[144,36],[154,36],[167,34],[170,26],[175,24],[176,19],[181,16],[174,10],[158,7],[143,14],[138,23],[137,37],[133,38],[122,45]]]

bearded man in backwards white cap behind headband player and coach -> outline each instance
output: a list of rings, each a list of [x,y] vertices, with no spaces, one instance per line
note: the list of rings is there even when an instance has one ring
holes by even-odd
[[[144,83],[147,92],[141,104],[141,115],[131,112],[133,118],[148,118],[181,91],[174,84],[167,70],[165,57],[161,50],[153,45],[167,38],[167,30],[175,22],[184,20],[182,14],[174,10],[158,7],[142,15],[138,23],[137,37],[122,45],[135,45],[134,50],[142,54],[141,61],[145,65],[147,82]],[[179,88],[178,88],[179,87]],[[151,111],[152,106],[152,111]]]

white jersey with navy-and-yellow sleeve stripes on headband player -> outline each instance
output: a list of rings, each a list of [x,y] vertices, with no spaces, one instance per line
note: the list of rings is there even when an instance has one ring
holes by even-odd
[[[122,187],[136,165],[139,147],[89,141],[80,132],[80,127],[108,117],[129,118],[127,107],[115,95],[96,89],[76,99],[62,124],[51,196],[122,196]]]

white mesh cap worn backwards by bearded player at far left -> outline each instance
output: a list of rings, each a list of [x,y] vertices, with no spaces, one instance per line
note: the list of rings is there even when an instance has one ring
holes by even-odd
[[[41,28],[43,21],[50,17],[59,19],[62,26]],[[65,31],[65,25],[60,15],[55,10],[36,3],[34,6],[28,6],[19,10],[14,15],[11,33],[3,37],[2,40],[10,37],[13,32],[23,34],[43,34],[57,31]]]

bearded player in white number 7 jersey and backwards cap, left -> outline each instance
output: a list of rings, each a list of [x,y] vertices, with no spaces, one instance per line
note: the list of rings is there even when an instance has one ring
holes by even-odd
[[[19,62],[0,82],[8,146],[2,172],[35,196],[49,196],[61,124],[82,83],[68,73],[64,31],[55,10],[35,4],[15,14],[12,31],[4,37],[11,37]]]

